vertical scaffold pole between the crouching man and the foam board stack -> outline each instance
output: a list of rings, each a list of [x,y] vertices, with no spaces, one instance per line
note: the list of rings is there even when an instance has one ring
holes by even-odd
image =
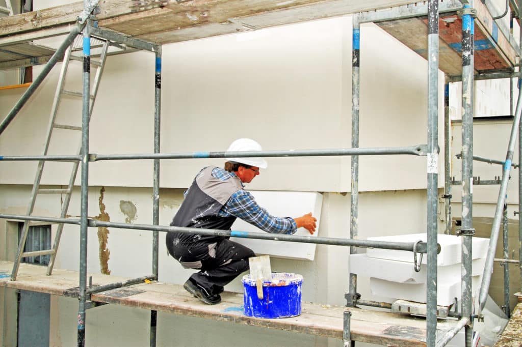
[[[359,147],[359,63],[360,63],[360,23],[359,16],[353,15],[352,31],[352,148]],[[351,157],[351,191],[350,191],[350,238],[357,238],[359,228],[359,156]],[[355,247],[350,247],[350,254],[357,253]],[[350,274],[350,293],[347,306],[357,304],[357,275]]]

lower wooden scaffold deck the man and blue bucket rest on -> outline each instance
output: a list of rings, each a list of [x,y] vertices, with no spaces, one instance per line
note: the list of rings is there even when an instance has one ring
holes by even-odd
[[[0,287],[8,287],[54,295],[70,296],[78,287],[78,272],[55,269],[45,276],[45,267],[21,264],[16,281],[10,280],[13,263],[0,261]],[[124,281],[127,278],[89,274],[93,285]],[[164,282],[140,283],[134,286],[92,294],[92,301],[129,307],[154,309],[160,312],[195,316],[265,328],[316,334],[342,339],[343,306],[303,302],[302,314],[284,319],[260,319],[243,313],[243,294],[224,292],[222,302],[208,306],[189,295],[179,284]],[[96,309],[96,308],[94,308]],[[351,335],[355,341],[384,345],[425,346],[426,321],[388,312],[351,308]],[[440,321],[438,336],[452,326]]]

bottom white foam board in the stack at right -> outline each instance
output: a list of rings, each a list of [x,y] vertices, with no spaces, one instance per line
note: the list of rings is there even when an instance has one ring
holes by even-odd
[[[471,288],[473,292],[480,287],[480,279],[481,276],[471,277]],[[404,299],[421,303],[426,302],[426,283],[405,284],[371,277],[370,288],[372,294],[389,298],[392,301],[395,299]],[[460,278],[451,282],[438,281],[437,305],[449,306],[455,302],[455,298],[460,302]]]

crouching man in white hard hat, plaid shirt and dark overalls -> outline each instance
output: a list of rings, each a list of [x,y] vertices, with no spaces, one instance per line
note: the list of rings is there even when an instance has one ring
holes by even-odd
[[[240,151],[262,151],[262,147],[254,140],[238,139],[227,150]],[[201,169],[170,225],[230,230],[235,219],[241,218],[270,233],[293,234],[303,227],[313,234],[317,219],[312,213],[297,218],[274,217],[244,190],[244,183],[250,183],[259,169],[267,166],[263,158],[230,158],[224,169]],[[223,287],[248,270],[248,258],[255,256],[251,249],[228,237],[169,231],[166,241],[169,254],[183,267],[199,269],[183,287],[208,305],[221,302]]]

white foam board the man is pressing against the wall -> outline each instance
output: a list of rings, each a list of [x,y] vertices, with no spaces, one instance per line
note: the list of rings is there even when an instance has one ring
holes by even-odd
[[[304,214],[312,212],[312,215],[317,218],[317,227],[314,234],[311,236],[306,229],[299,228],[294,235],[311,236],[314,238],[319,234],[319,217],[321,216],[321,207],[323,205],[322,194],[316,192],[253,190],[249,192],[254,195],[259,206],[265,208],[268,213],[276,217],[301,217]],[[239,218],[236,219],[232,225],[232,230],[265,233],[265,231]],[[315,257],[315,243],[244,238],[231,238],[231,240],[249,247],[256,255],[266,254],[280,258],[307,259],[311,261],[313,261]]]

